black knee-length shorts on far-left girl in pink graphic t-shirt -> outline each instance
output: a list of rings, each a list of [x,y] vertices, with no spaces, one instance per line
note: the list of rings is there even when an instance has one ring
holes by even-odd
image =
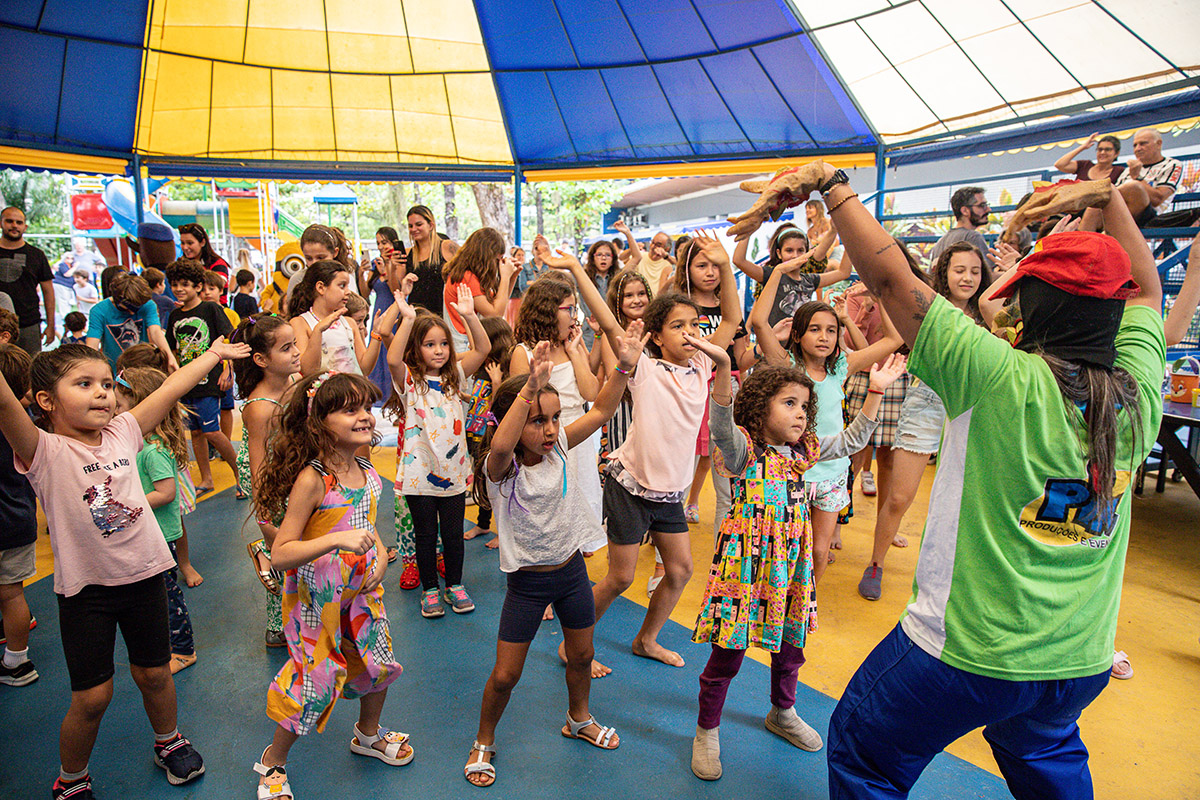
[[[72,692],[100,686],[113,676],[118,626],[131,664],[151,668],[170,663],[167,585],[161,575],[124,587],[86,585],[77,595],[58,599]]]

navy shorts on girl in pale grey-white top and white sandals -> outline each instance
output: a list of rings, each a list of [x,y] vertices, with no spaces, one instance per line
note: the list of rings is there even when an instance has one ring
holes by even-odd
[[[500,608],[500,642],[533,642],[541,626],[546,606],[553,604],[563,627],[572,631],[596,624],[595,600],[583,555],[550,572],[517,570],[506,575],[509,590]]]

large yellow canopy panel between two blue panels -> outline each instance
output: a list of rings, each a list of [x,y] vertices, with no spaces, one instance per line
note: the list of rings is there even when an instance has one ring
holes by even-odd
[[[469,0],[154,0],[134,146],[169,157],[512,163]]]

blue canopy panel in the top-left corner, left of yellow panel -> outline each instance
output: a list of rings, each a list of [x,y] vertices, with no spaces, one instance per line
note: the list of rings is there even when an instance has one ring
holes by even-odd
[[[127,155],[133,148],[145,0],[0,2],[0,139]],[[30,66],[36,68],[30,68]]]

